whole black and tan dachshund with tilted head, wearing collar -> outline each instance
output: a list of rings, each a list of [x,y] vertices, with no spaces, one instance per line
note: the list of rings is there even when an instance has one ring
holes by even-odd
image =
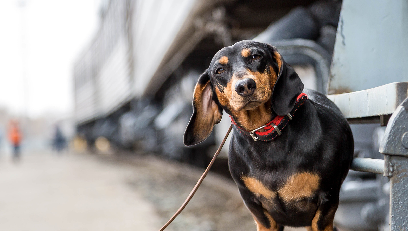
[[[333,102],[303,87],[275,47],[246,40],[218,51],[194,89],[184,144],[231,115],[229,168],[258,231],[333,230],[353,134]]]

